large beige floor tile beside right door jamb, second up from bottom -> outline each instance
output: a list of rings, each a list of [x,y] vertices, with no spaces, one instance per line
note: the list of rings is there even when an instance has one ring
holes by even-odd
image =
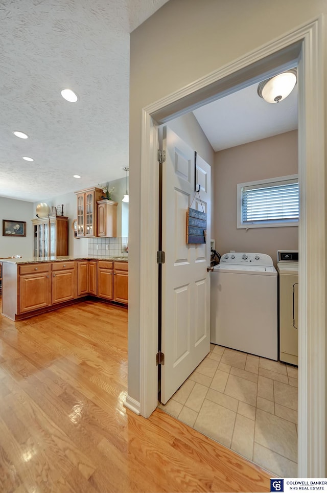
[[[297,461],[295,424],[273,414],[256,410],[254,441],[267,449]]]

